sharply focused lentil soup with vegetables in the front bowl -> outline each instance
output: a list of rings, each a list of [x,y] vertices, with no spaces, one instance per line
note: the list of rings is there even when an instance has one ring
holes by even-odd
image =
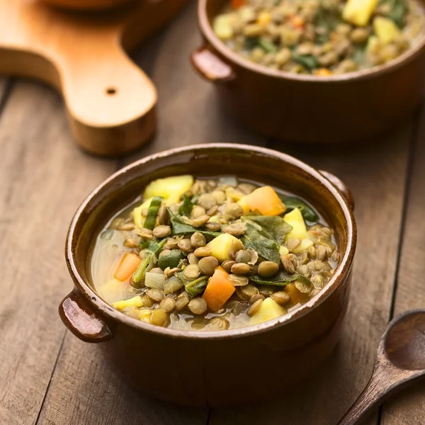
[[[98,294],[174,329],[265,322],[319,293],[339,263],[334,231],[304,200],[224,176],[150,183],[98,235]]]

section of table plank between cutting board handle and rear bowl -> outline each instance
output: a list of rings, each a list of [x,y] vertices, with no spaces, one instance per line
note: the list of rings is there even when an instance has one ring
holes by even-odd
[[[193,70],[189,55],[201,45],[192,1],[166,33],[135,55],[157,86],[158,128],[149,145],[127,162],[171,147],[210,142],[265,145],[266,138],[246,130],[220,110],[215,88]],[[154,52],[152,52],[154,50]]]

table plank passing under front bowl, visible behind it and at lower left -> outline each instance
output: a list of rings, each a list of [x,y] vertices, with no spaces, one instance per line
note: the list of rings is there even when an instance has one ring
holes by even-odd
[[[133,56],[157,84],[159,130],[147,147],[120,160],[121,166],[169,147],[199,142],[239,138],[266,142],[222,115],[212,98],[212,87],[195,77],[188,63],[189,53],[200,42],[195,11],[193,3]],[[142,397],[104,365],[96,347],[67,334],[39,423],[205,424],[207,414],[207,409],[176,407]]]

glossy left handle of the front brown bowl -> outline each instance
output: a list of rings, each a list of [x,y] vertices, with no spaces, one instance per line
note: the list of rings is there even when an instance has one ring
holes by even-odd
[[[59,306],[64,325],[84,342],[103,342],[113,338],[108,325],[91,310],[77,289],[69,293]]]

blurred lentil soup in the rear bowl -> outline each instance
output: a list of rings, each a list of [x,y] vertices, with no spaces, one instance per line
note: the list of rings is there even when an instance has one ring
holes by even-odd
[[[212,22],[247,60],[326,77],[370,69],[425,33],[419,0],[232,0]]]

